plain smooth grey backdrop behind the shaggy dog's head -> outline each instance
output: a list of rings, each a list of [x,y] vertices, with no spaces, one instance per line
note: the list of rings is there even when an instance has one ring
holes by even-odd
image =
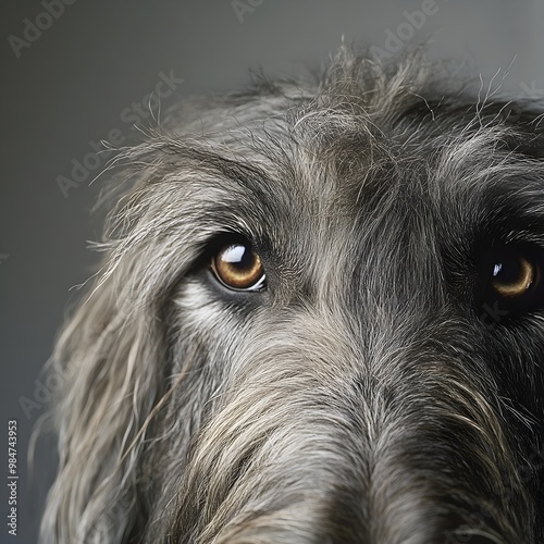
[[[47,0],[46,0],[47,1]],[[428,0],[429,1],[429,0]],[[0,147],[0,542],[36,540],[39,510],[53,477],[53,444],[39,440],[34,477],[27,468],[28,440],[44,415],[48,394],[40,369],[48,359],[72,287],[91,273],[100,218],[90,208],[100,172],[71,188],[64,198],[57,177],[71,177],[72,160],[92,151],[89,141],[118,128],[125,141],[137,137],[123,110],[140,102],[173,71],[183,78],[163,100],[232,89],[248,82],[248,69],[271,75],[295,74],[301,63],[319,65],[347,44],[366,41],[383,49],[421,0],[317,1],[239,0],[255,4],[239,17],[224,1],[84,1],[66,5],[49,28],[16,57],[10,36],[23,38],[25,18],[45,12],[39,1],[4,1]],[[542,96],[544,88],[544,1],[435,0],[435,13],[401,46],[429,40],[436,57],[465,60],[484,81],[512,63],[503,82],[506,94]],[[40,20],[47,25],[47,17]],[[404,34],[403,34],[404,33]],[[144,124],[147,124],[145,122]],[[103,161],[102,164],[103,165]],[[8,256],[8,257],[5,257]],[[38,382],[36,382],[38,381]],[[25,413],[21,403],[32,401]],[[27,405],[29,406],[29,405]],[[5,478],[8,420],[18,422],[18,540],[7,533]]]

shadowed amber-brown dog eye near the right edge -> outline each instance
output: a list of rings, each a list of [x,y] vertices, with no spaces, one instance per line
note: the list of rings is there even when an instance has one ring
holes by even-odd
[[[536,280],[536,264],[523,255],[502,257],[493,264],[491,285],[502,297],[521,297]]]

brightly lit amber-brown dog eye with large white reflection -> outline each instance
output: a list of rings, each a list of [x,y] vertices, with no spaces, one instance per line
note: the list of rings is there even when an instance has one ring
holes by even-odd
[[[217,279],[235,290],[259,290],[264,286],[264,270],[260,257],[248,244],[224,245],[211,259]]]

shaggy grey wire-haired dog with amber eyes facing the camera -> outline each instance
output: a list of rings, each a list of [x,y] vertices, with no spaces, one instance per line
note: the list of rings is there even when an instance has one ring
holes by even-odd
[[[120,151],[45,543],[544,542],[541,110],[410,53]]]

